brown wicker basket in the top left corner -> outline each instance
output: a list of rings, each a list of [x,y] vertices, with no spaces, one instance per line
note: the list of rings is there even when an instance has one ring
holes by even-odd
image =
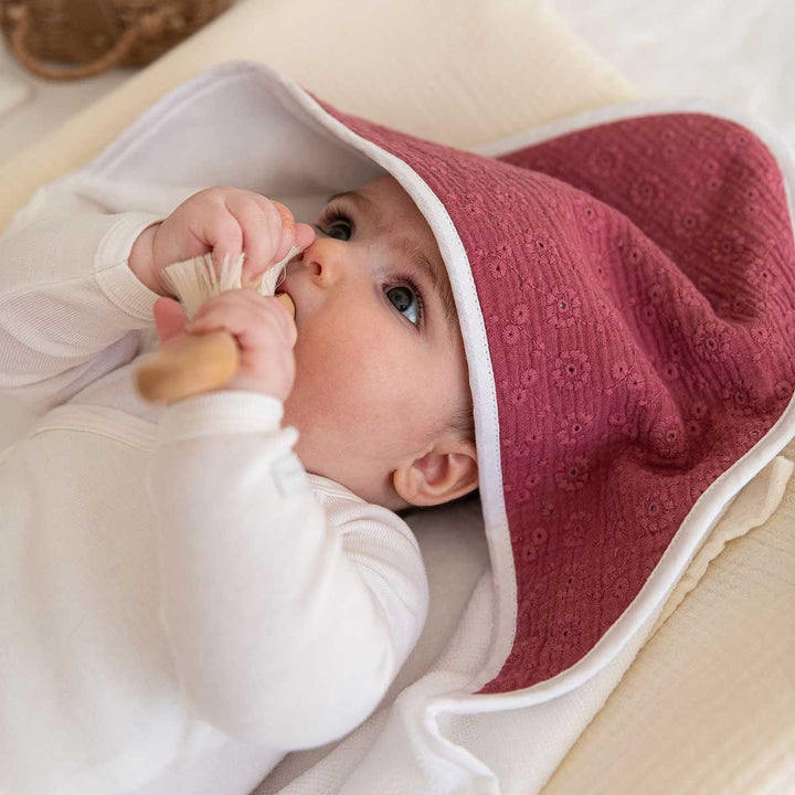
[[[77,80],[114,66],[147,64],[232,2],[0,0],[0,25],[13,55],[33,74]]]

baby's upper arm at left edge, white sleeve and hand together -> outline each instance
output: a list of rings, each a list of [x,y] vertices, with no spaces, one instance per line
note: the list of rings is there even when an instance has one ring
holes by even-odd
[[[245,248],[253,280],[274,247],[284,256],[314,239],[283,204],[236,188],[199,191],[165,219],[108,214],[91,192],[80,176],[46,186],[0,240],[0,391],[38,411],[140,352],[155,303],[170,295],[166,266]]]

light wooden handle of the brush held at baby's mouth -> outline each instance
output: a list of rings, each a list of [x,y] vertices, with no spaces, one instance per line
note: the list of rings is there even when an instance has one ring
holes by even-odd
[[[276,296],[295,316],[288,295]],[[153,403],[172,403],[223,386],[237,371],[240,349],[234,337],[219,329],[186,335],[141,360],[136,369],[138,393]]]

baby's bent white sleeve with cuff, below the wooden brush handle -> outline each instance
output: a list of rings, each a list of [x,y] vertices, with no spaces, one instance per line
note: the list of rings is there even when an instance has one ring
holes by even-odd
[[[395,513],[321,506],[282,415],[245,391],[169,406],[148,489],[184,697],[225,733],[287,751],[341,738],[378,707],[420,637],[428,586]]]

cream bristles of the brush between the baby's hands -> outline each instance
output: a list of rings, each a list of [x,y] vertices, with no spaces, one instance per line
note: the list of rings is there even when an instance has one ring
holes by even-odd
[[[287,268],[287,263],[299,251],[300,248],[293,246],[287,252],[287,256],[262,274],[257,283],[246,285],[246,287],[255,289],[259,295],[274,295]],[[209,298],[225,290],[241,289],[244,286],[242,283],[244,259],[245,253],[234,259],[224,256],[223,263],[216,272],[212,254],[201,254],[167,266],[163,268],[163,276],[182,301],[186,315],[190,319]]]

